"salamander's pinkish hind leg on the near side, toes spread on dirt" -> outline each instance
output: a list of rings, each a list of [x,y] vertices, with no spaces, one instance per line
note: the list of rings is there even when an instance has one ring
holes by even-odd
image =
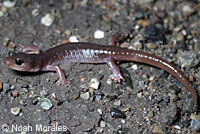
[[[112,71],[112,75],[110,75],[110,78],[108,79],[109,81],[114,80],[115,82],[120,83],[121,80],[124,80],[120,69],[118,68],[118,66],[114,63],[114,61],[109,61],[108,66],[110,67],[111,71]]]

